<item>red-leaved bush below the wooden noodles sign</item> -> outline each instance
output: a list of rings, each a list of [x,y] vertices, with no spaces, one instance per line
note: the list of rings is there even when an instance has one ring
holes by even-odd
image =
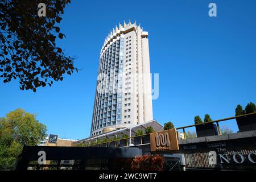
[[[164,158],[161,155],[136,156],[131,163],[133,171],[163,171]]]

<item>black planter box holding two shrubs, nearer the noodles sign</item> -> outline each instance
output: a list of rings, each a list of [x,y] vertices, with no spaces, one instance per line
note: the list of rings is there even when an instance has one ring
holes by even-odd
[[[213,123],[203,123],[203,125],[196,125],[197,137],[209,137],[218,135],[217,126]]]

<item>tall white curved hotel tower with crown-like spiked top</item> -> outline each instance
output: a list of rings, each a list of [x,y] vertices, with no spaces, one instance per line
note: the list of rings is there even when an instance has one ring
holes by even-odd
[[[123,22],[105,39],[91,137],[153,119],[147,36],[136,23]]]

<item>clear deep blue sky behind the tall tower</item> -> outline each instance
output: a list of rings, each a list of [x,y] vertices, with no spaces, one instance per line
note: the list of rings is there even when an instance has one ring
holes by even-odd
[[[210,2],[217,17],[208,16]],[[137,20],[148,31],[151,72],[159,73],[154,119],[176,127],[195,115],[234,115],[256,102],[256,1],[75,1],[67,6],[57,43],[82,70],[52,87],[21,91],[0,82],[0,117],[18,107],[37,113],[48,134],[89,136],[100,50],[115,24]],[[232,126],[233,130],[236,130]]]

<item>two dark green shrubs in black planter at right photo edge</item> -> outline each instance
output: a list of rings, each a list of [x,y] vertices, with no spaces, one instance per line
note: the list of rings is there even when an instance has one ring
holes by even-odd
[[[245,110],[242,109],[241,105],[237,105],[236,108],[236,116],[255,112],[256,106],[253,102],[248,103]],[[256,130],[256,114],[236,118],[236,121],[240,132]]]

